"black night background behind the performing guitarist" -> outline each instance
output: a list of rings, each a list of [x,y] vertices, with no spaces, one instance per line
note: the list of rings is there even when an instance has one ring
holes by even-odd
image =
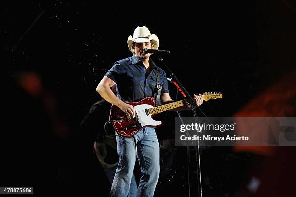
[[[115,61],[132,56],[126,41],[137,26],[148,27],[159,37],[159,48],[171,51],[164,61],[191,94],[222,92],[223,99],[201,106],[207,116],[232,116],[296,63],[296,10],[291,0],[194,5],[10,1],[3,9],[1,80],[8,109],[3,150],[9,176],[2,181],[34,186],[35,194],[107,196],[110,184],[92,152],[94,134],[78,127],[90,106],[102,99],[95,88],[105,72]],[[34,89],[36,83],[39,91],[30,94],[28,88]],[[175,99],[172,84],[169,90]],[[102,112],[100,127],[108,120],[107,113]],[[172,112],[161,116],[160,140],[174,137],[170,122],[175,116]],[[175,147],[175,163],[160,179],[155,196],[188,196],[185,153],[185,147]],[[193,149],[191,153],[191,193],[197,196]],[[203,150],[206,196],[235,196],[250,157],[233,154],[231,147]]]

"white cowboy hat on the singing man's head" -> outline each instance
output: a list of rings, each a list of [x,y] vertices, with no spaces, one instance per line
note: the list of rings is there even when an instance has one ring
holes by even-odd
[[[133,42],[136,43],[144,43],[144,42],[150,42],[152,41],[154,47],[153,49],[158,49],[159,46],[159,40],[158,37],[155,34],[150,33],[149,29],[146,28],[145,26],[143,27],[137,27],[134,32],[133,32],[133,37],[129,36],[128,37],[128,47],[130,51],[133,53]]]

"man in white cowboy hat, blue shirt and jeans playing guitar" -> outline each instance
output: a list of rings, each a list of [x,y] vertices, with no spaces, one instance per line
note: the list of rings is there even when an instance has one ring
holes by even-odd
[[[150,59],[151,54],[143,53],[145,48],[158,49],[159,40],[145,26],[137,27],[133,37],[128,37],[128,47],[133,56],[116,62],[108,70],[96,91],[108,102],[118,106],[123,112],[135,117],[132,105],[124,101],[138,101],[142,98],[157,95],[157,75],[161,89],[161,103],[174,102],[168,91],[165,72]],[[158,74],[157,74],[158,73]],[[117,96],[110,87],[117,84]],[[201,95],[194,95],[196,104],[202,104]],[[191,109],[180,107],[177,110]],[[126,197],[129,192],[133,168],[138,158],[142,176],[137,196],[153,196],[159,176],[159,143],[154,128],[144,128],[132,138],[116,136],[118,167],[113,179],[110,196]]]

